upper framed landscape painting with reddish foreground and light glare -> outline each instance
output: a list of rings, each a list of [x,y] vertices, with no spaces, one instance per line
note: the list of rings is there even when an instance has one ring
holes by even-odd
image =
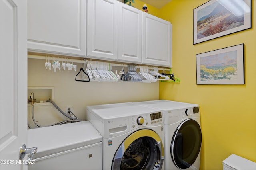
[[[210,0],[193,10],[193,44],[252,28],[252,0]]]

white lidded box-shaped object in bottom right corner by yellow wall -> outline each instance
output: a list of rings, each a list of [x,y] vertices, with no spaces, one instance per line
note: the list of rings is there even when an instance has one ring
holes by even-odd
[[[235,154],[223,160],[223,170],[256,170],[256,163]]]

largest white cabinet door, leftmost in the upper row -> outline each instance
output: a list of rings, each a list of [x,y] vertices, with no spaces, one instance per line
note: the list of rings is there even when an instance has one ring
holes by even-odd
[[[84,57],[85,0],[28,0],[28,51]]]

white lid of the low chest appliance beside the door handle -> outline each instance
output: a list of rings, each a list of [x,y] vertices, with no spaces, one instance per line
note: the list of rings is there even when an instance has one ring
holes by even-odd
[[[28,146],[38,147],[33,159],[102,142],[102,136],[89,121],[28,130]]]

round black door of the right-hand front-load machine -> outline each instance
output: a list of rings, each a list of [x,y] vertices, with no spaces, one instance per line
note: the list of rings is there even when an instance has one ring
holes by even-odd
[[[202,133],[194,119],[186,119],[176,129],[171,143],[171,157],[180,169],[192,166],[201,149]]]

